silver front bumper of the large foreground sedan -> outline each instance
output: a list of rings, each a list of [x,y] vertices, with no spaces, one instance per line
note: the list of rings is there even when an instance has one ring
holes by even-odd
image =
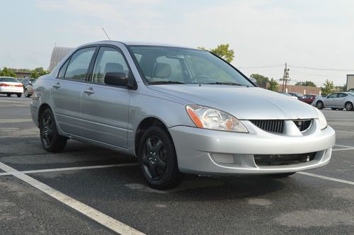
[[[178,168],[183,173],[205,175],[290,173],[329,163],[336,134],[331,127],[319,130],[318,120],[301,135],[265,132],[242,121],[247,134],[205,130],[196,127],[169,128],[176,148]],[[258,166],[254,155],[314,153],[314,159],[299,164]],[[231,161],[230,161],[231,159]]]

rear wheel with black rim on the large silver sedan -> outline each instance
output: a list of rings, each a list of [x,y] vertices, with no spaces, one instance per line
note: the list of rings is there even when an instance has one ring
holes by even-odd
[[[55,118],[50,108],[40,115],[40,142],[45,150],[51,152],[62,151],[67,144],[67,138],[58,134]]]

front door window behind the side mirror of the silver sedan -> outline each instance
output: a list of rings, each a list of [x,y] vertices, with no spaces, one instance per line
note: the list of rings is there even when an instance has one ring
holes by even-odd
[[[101,47],[93,69],[92,81],[98,84],[104,84],[105,74],[108,72],[124,73],[128,75],[129,68],[120,51],[111,47]]]

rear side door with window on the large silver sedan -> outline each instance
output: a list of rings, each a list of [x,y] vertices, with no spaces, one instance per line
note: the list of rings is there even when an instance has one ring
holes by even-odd
[[[85,47],[74,52],[52,84],[53,111],[60,129],[68,134],[81,135],[81,92],[95,51],[96,47]]]

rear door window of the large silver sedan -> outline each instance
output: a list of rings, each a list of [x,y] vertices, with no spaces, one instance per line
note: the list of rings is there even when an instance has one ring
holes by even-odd
[[[64,79],[85,80],[96,47],[78,50],[72,55]]]

